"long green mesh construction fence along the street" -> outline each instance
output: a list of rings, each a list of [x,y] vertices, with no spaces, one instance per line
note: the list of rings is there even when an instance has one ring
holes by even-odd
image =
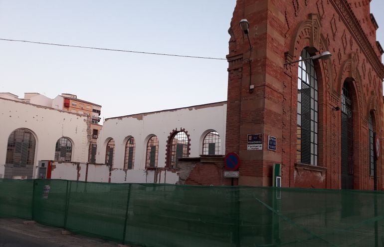
[[[0,217],[145,247],[384,246],[384,193],[0,179]]]

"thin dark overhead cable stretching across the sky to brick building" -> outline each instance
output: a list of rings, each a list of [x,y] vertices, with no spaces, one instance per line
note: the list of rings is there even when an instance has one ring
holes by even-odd
[[[0,40],[3,40],[3,41],[15,41],[15,42],[25,42],[25,43],[33,43],[33,44],[56,45],[56,46],[64,46],[64,47],[76,47],[76,48],[85,48],[85,49],[95,49],[95,50],[132,52],[132,53],[141,53],[141,54],[149,54],[149,55],[162,55],[162,56],[177,56],[177,57],[188,57],[188,58],[227,60],[226,58],[217,58],[217,57],[187,56],[187,55],[178,55],[178,54],[166,54],[166,53],[155,53],[155,52],[145,52],[145,51],[134,51],[134,50],[98,48],[98,47],[81,46],[81,45],[45,43],[45,42],[37,42],[37,41],[30,41],[30,40],[18,40],[18,39],[6,39],[6,38],[0,38]]]

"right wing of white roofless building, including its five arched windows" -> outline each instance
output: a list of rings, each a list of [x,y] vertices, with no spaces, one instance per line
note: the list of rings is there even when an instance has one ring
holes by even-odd
[[[226,102],[108,118],[96,163],[112,165],[111,182],[143,181],[143,172],[173,168],[177,158],[225,152]],[[158,177],[156,177],[158,176]],[[168,175],[155,175],[162,180]]]

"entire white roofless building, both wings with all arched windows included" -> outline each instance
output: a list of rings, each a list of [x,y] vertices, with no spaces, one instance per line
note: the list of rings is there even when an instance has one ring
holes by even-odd
[[[225,152],[226,102],[108,118],[95,142],[89,115],[0,96],[0,178],[38,178],[51,161],[52,179],[174,184],[179,158]]]

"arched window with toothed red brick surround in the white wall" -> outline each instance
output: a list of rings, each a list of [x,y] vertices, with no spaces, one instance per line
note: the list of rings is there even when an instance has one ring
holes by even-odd
[[[170,144],[168,148],[168,167],[175,168],[178,163],[178,158],[188,157],[189,141],[188,135],[184,131],[178,131],[171,140],[168,141]]]

